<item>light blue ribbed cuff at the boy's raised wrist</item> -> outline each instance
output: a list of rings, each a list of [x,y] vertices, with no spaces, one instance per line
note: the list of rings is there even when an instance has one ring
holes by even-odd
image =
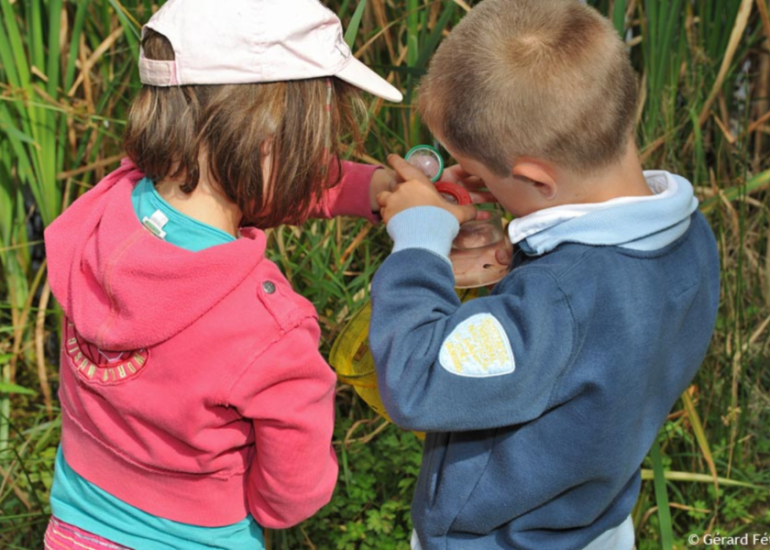
[[[452,241],[460,224],[452,214],[437,206],[417,206],[399,212],[388,223],[393,253],[422,248],[449,262]],[[451,263],[451,262],[450,262]]]

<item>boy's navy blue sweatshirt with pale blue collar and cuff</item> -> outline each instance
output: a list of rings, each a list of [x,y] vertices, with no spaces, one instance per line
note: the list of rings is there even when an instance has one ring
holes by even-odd
[[[465,304],[454,218],[391,220],[370,344],[388,413],[428,432],[412,505],[424,550],[578,550],[628,518],[719,299],[692,186],[645,175],[654,197],[517,221],[513,269]]]

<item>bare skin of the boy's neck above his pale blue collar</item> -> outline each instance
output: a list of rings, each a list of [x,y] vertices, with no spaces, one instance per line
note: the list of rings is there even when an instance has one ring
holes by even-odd
[[[631,140],[617,162],[589,176],[569,172],[560,175],[562,204],[605,202],[620,197],[644,197],[653,192],[647,185],[636,144]]]

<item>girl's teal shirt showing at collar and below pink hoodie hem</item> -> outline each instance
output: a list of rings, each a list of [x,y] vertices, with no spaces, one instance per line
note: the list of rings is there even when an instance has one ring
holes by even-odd
[[[198,252],[235,241],[232,235],[174,209],[147,178],[134,188],[131,201],[145,227],[156,235],[163,235],[164,240],[173,245]],[[200,527],[153,516],[115,498],[78,475],[64,460],[61,447],[56,453],[51,511],[66,523],[112,542],[141,550],[265,548],[262,529],[251,515],[224,527]]]

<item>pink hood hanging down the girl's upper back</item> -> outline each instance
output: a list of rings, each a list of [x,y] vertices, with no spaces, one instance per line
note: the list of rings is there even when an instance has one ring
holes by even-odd
[[[45,232],[51,290],[78,332],[103,350],[164,342],[236,289],[264,258],[265,235],[256,229],[201,252],[152,235],[131,203],[143,177],[124,160]]]

